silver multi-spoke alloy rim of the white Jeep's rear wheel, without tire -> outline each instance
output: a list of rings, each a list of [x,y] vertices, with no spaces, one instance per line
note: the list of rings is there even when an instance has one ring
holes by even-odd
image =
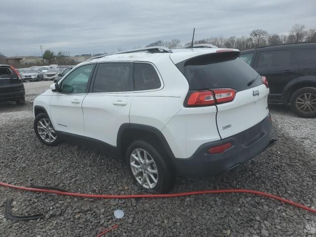
[[[130,167],[137,182],[146,189],[158,183],[158,168],[152,156],[143,149],[135,149],[130,155]]]

